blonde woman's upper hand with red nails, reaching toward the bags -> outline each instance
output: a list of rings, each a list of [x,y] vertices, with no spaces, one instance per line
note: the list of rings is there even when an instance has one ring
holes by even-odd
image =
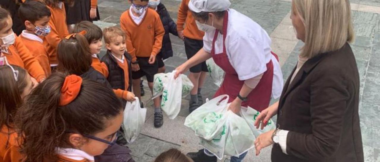
[[[268,121],[277,114],[277,109],[279,108],[279,102],[276,102],[269,106],[268,108],[261,111],[260,115],[257,116],[255,126],[257,129],[260,127],[264,129],[264,127],[268,124]]]

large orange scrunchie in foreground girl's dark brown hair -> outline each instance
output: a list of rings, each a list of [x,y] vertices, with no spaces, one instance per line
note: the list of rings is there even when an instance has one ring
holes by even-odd
[[[82,78],[78,75],[66,76],[65,82],[61,88],[61,97],[59,100],[59,106],[65,106],[78,96],[81,91]]]

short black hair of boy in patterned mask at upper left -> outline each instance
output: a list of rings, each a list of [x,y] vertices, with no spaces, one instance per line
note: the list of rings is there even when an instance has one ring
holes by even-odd
[[[43,3],[36,0],[27,0],[26,2],[22,3],[19,8],[19,17],[22,23],[24,23],[26,20],[30,21],[31,23],[35,23],[45,16],[51,16],[50,9],[47,8]]]

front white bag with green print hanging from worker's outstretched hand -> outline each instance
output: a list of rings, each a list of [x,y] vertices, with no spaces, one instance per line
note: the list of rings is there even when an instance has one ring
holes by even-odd
[[[161,109],[169,119],[177,117],[182,103],[182,78],[174,79],[176,71],[169,73],[168,81],[163,83]]]

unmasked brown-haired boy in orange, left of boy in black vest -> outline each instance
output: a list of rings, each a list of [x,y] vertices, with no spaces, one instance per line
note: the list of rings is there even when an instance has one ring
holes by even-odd
[[[86,31],[84,37],[86,37],[90,45],[90,51],[92,54],[91,66],[107,78],[107,65],[103,62],[100,62],[100,59],[98,58],[98,54],[100,53],[101,47],[103,46],[103,42],[101,41],[101,39],[103,38],[103,32],[101,31],[99,26],[93,24],[92,22],[82,21],[75,25],[73,33],[79,33],[83,30]]]

